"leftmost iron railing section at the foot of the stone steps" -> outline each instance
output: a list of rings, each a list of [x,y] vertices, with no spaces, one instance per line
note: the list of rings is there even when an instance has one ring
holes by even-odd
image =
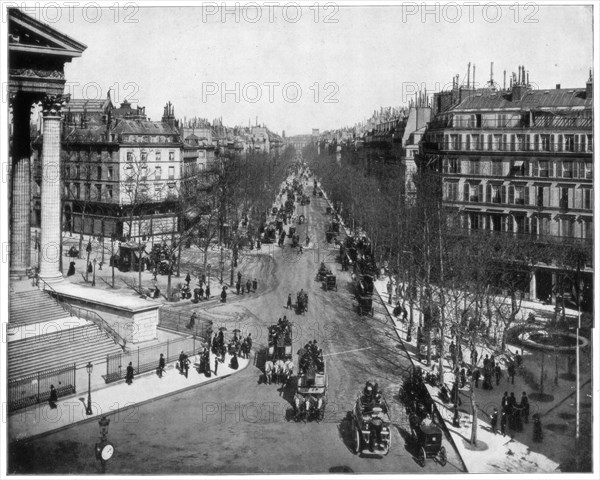
[[[50,399],[50,385],[58,397],[76,392],[75,364],[43,370],[22,378],[8,380],[8,411],[29,407]]]

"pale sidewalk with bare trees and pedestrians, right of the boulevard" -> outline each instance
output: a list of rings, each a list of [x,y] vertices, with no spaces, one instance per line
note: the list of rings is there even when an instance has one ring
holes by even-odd
[[[387,294],[387,278],[377,280],[375,282],[375,288],[379,294],[382,302],[384,303],[388,314],[392,318],[396,332],[399,338],[402,340],[409,357],[413,365],[419,366],[424,372],[432,370],[431,367],[425,365],[426,360],[423,359],[423,363],[418,360],[417,349],[416,349],[416,333],[413,331],[413,339],[411,342],[406,342],[407,325],[402,323],[397,317],[393,315],[393,307],[390,306],[386,300],[388,300]],[[533,303],[533,302],[531,302]],[[418,311],[414,310],[415,318],[415,329],[418,325]],[[449,363],[448,345],[451,339],[445,337],[445,352],[446,358],[444,359],[444,383],[450,391],[454,383],[454,374],[451,373],[452,368]],[[507,345],[507,348],[511,351],[516,351],[517,347],[513,345]],[[519,347],[520,349],[520,347]],[[470,358],[470,350],[463,345],[463,358]],[[493,390],[483,390],[482,388],[474,389],[474,400],[478,406],[478,431],[477,431],[477,447],[472,447],[470,444],[472,422],[471,422],[471,407],[469,400],[469,386],[460,390],[460,396],[462,406],[459,407],[459,413],[461,416],[460,427],[454,427],[452,425],[453,404],[444,404],[439,398],[439,388],[433,387],[427,384],[427,389],[434,401],[436,408],[440,416],[444,419],[446,427],[450,432],[452,440],[456,445],[462,460],[470,473],[542,473],[542,472],[559,472],[559,466],[569,458],[569,452],[572,450],[574,443],[574,436],[570,434],[570,428],[553,428],[551,426],[565,426],[567,419],[574,418],[574,396],[571,397],[575,391],[575,382],[569,381],[568,379],[560,378],[558,385],[553,384],[552,378],[554,377],[554,357],[550,356],[547,365],[547,373],[549,374],[546,380],[546,392],[550,392],[552,400],[548,402],[536,402],[530,399],[530,413],[539,413],[542,416],[542,424],[544,426],[544,441],[543,443],[533,443],[532,423],[530,420],[529,424],[523,425],[522,432],[516,432],[507,428],[506,436],[500,433],[494,434],[489,424],[489,414],[492,413],[493,407],[501,411],[501,397],[505,391],[514,392],[517,397],[517,402],[520,400],[521,393],[527,392],[529,396],[532,393],[537,392],[536,389],[532,389],[531,383],[536,378],[524,378],[524,375],[517,375],[515,377],[515,383],[508,383],[508,375],[506,373],[506,358],[504,355],[498,356],[498,352],[494,352],[489,348],[478,347],[479,363],[485,355],[495,355],[496,361],[502,366],[503,375],[500,379],[500,384],[496,385],[494,381]],[[536,355],[541,355],[538,352],[523,351],[523,371],[527,372],[530,369],[535,370],[539,368],[538,360]],[[546,353],[549,356],[548,353]],[[557,360],[558,361],[558,360]],[[432,362],[432,366],[436,368],[439,361]],[[557,364],[558,365],[558,364]],[[587,394],[591,394],[590,383],[586,382],[590,379],[589,372],[582,375],[582,402]],[[540,372],[537,372],[537,379],[539,379]],[[480,386],[482,385],[480,380]],[[563,408],[567,412],[559,412]],[[571,414],[573,412],[573,414]],[[530,417],[531,418],[531,417]],[[585,420],[582,420],[585,421]],[[550,423],[556,422],[556,423]],[[572,424],[573,422],[571,422]],[[571,425],[572,426],[572,425]],[[500,431],[498,425],[498,432]],[[566,453],[565,453],[566,452]],[[572,452],[571,452],[572,453]]]

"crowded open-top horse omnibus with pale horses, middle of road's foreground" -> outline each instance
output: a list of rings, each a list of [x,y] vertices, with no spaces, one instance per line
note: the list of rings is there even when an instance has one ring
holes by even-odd
[[[294,420],[316,420],[325,417],[327,405],[327,373],[322,352],[301,349],[298,352],[298,384],[294,395]]]

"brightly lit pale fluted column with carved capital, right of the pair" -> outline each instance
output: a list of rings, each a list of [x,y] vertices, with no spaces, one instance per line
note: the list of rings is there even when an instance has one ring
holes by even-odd
[[[44,127],[42,144],[42,233],[40,277],[48,283],[63,280],[60,271],[60,113],[66,97],[42,100]]]

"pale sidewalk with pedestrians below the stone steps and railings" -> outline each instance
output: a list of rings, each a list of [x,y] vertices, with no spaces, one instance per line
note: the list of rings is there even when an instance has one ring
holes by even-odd
[[[124,421],[127,421],[127,418],[136,421],[136,406],[229,377],[246,368],[252,356],[250,359],[239,358],[239,368],[233,370],[229,367],[231,358],[226,355],[225,362],[219,363],[217,375],[214,374],[214,359],[214,355],[211,354],[211,377],[206,377],[204,374],[199,374],[196,369],[190,368],[188,378],[185,378],[175,368],[175,363],[170,363],[167,364],[162,378],[158,378],[153,371],[136,376],[131,385],[121,381],[94,389],[92,390],[93,415],[85,413],[87,405],[85,388],[73,396],[59,398],[56,409],[51,409],[47,403],[41,403],[18,410],[8,417],[8,441],[24,440],[79,423],[97,421],[102,415],[118,414]]]

